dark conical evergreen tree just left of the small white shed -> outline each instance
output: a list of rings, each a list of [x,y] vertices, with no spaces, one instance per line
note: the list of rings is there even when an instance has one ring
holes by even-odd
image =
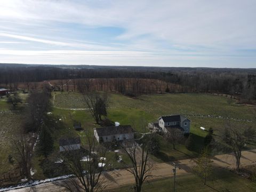
[[[50,131],[46,126],[41,127],[41,132],[39,134],[38,142],[39,153],[47,157],[53,151],[53,139]]]

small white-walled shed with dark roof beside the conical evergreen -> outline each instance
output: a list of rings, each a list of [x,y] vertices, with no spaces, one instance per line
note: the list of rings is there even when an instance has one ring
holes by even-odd
[[[60,152],[68,150],[77,150],[81,148],[81,140],[79,137],[60,139],[59,145]]]

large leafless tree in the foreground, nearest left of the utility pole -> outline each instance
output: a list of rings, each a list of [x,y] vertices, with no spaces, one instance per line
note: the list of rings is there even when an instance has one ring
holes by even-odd
[[[148,139],[148,142],[150,142],[150,139]],[[143,182],[149,177],[153,177],[153,164],[149,162],[148,142],[143,143],[140,147],[137,147],[136,142],[125,142],[126,144],[121,145],[132,162],[132,167],[128,168],[127,171],[132,173],[135,179],[135,192],[140,192]]]

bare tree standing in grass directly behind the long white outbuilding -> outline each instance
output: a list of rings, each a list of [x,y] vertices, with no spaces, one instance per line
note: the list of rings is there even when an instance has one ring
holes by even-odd
[[[84,101],[89,107],[90,113],[96,123],[99,124],[102,120],[101,116],[107,116],[107,94],[100,95],[98,93],[89,93],[85,95]]]

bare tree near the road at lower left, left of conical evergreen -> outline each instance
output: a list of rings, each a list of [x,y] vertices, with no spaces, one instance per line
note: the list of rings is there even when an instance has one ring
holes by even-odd
[[[18,162],[22,173],[27,179],[31,178],[31,153],[33,151],[33,141],[30,134],[16,135],[12,140],[15,159]]]

